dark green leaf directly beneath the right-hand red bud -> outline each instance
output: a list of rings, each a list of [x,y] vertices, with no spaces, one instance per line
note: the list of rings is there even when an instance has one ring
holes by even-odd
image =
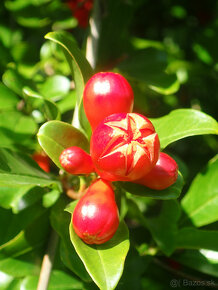
[[[183,177],[179,173],[176,182],[170,187],[163,190],[150,189],[144,185],[136,184],[133,182],[120,182],[120,186],[125,189],[125,191],[139,196],[147,196],[156,199],[175,199],[178,198],[182,188],[183,188]]]

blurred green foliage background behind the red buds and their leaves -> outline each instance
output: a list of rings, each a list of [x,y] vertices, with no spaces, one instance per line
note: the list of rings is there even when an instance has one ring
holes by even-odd
[[[85,53],[89,27],[78,26],[66,2],[0,1],[0,146],[7,148],[1,149],[0,156],[1,180],[5,182],[0,187],[0,289],[36,289],[50,220],[60,236],[67,235],[66,225],[62,228],[60,224],[61,214],[57,220],[55,213],[63,214],[69,199],[62,197],[50,210],[62,191],[53,178],[57,168],[52,165],[48,177],[26,156],[39,149],[39,126],[48,120],[71,122],[77,103],[76,80],[61,46],[44,39],[48,32],[67,31]],[[217,1],[99,0],[99,6],[101,30],[95,70],[121,72],[129,80],[135,94],[134,111],[160,118],[175,109],[191,108],[217,118]],[[217,281],[217,161],[205,167],[217,149],[213,135],[186,138],[167,147],[186,181],[178,201],[182,200],[182,208],[176,213],[176,201],[156,202],[128,194],[124,199],[120,193],[133,247],[117,289],[169,289],[170,280],[183,277]],[[8,186],[6,173],[18,175]],[[19,189],[9,187],[22,182],[26,185]],[[208,183],[213,190],[208,189]],[[191,219],[189,215],[193,215]],[[171,223],[172,216],[176,216],[175,223]],[[63,220],[68,218],[63,215]],[[187,227],[179,229],[183,221]],[[189,228],[193,222],[200,228]],[[163,253],[170,255],[175,250],[173,242],[179,249],[171,258],[165,257]],[[75,263],[69,259],[69,251]],[[67,289],[69,285],[96,289],[88,283],[90,277],[69,240],[61,241],[58,252],[62,260],[56,256],[49,289]]]

